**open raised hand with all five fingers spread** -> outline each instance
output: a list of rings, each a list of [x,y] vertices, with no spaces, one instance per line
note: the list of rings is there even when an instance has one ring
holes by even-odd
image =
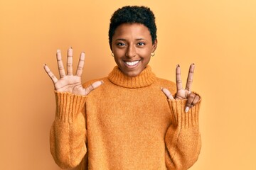
[[[46,73],[52,79],[55,91],[59,92],[69,92],[72,94],[78,95],[87,95],[98,86],[103,84],[103,81],[95,81],[93,84],[88,86],[87,88],[83,88],[81,84],[81,75],[82,69],[85,62],[85,52],[81,52],[80,60],[78,62],[78,69],[76,74],[73,75],[73,49],[70,47],[68,49],[68,62],[67,62],[67,74],[65,74],[65,69],[63,66],[63,61],[61,58],[60,50],[57,50],[56,53],[57,62],[58,62],[58,70],[60,74],[60,79],[57,79],[55,75],[50,71],[49,67],[44,64],[44,69]]]

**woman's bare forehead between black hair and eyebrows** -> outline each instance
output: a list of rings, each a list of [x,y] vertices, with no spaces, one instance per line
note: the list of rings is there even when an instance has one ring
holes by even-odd
[[[114,30],[113,38],[144,38],[151,39],[149,29],[142,23],[122,23]]]

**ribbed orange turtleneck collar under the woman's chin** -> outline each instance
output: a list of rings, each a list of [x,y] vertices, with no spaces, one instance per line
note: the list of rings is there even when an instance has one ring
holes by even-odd
[[[108,79],[117,86],[135,89],[151,85],[156,80],[156,76],[151,71],[151,67],[149,65],[147,65],[137,77],[128,77],[116,66],[112,72],[110,72]]]

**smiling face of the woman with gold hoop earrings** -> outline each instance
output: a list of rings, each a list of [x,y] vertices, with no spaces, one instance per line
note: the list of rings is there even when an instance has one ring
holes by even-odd
[[[119,69],[129,77],[139,75],[156,50],[149,29],[140,23],[123,23],[114,30],[112,52]]]

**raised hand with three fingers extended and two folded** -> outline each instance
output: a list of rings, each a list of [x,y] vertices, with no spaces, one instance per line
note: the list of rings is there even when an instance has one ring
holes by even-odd
[[[189,67],[188,79],[186,82],[186,89],[183,89],[182,81],[181,81],[181,67],[179,65],[177,65],[177,67],[176,67],[177,93],[176,93],[175,98],[174,98],[174,96],[171,95],[171,92],[168,89],[162,88],[162,91],[164,92],[164,94],[167,96],[167,98],[169,98],[171,100],[188,99],[186,102],[186,109],[185,109],[186,112],[188,112],[189,108],[195,106],[196,103],[198,103],[198,101],[200,100],[200,96],[191,92],[194,69],[195,69],[195,64],[191,64],[191,66]]]

